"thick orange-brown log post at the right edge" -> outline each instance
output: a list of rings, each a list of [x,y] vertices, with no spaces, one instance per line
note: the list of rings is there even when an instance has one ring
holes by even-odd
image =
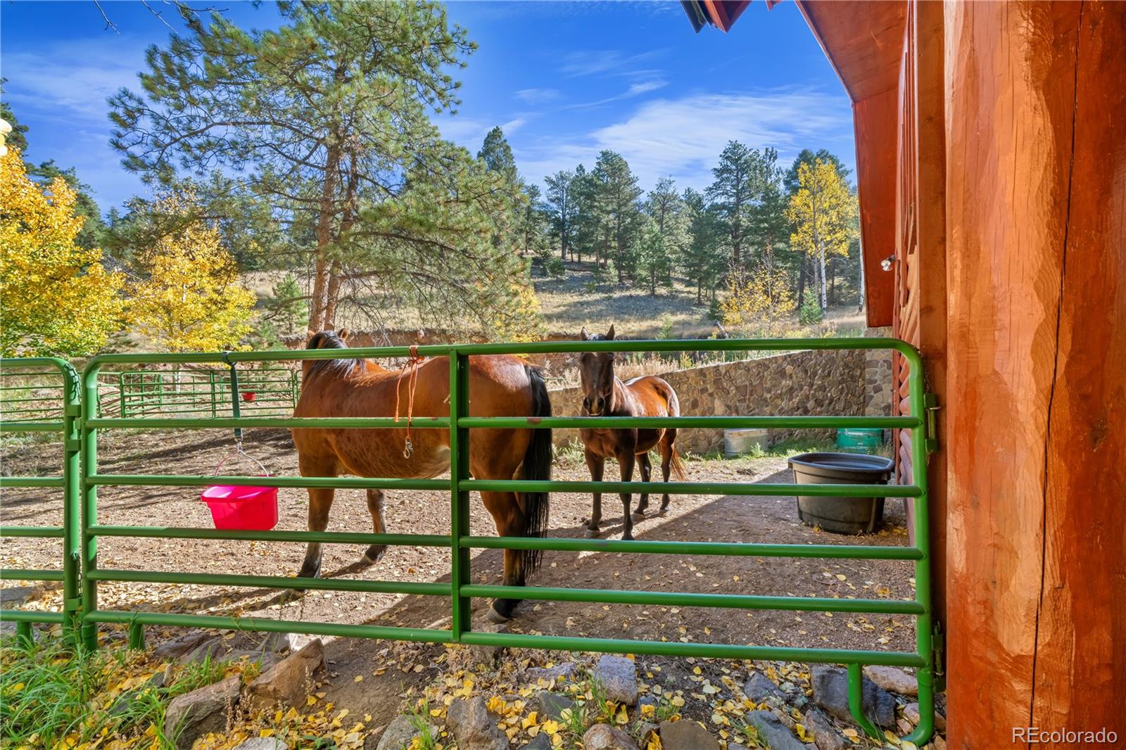
[[[949,734],[1126,735],[1126,5],[949,3]]]

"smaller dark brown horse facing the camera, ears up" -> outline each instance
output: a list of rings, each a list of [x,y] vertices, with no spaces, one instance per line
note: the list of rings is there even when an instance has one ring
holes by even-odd
[[[611,341],[614,327],[606,336],[587,333],[582,329],[583,341]],[[579,358],[582,381],[582,413],[586,417],[679,417],[680,404],[672,386],[653,375],[635,377],[623,383],[614,374],[611,352],[586,352]],[[676,429],[582,429],[579,430],[587,457],[590,479],[602,481],[602,470],[607,458],[617,458],[622,468],[622,481],[633,479],[634,461],[641,464],[641,480],[647,482],[652,468],[649,462],[650,448],[661,452],[661,475],[669,481],[669,472],[683,479],[683,465],[677,455]],[[629,514],[629,493],[622,493],[622,538],[633,538],[633,521],[645,517],[649,493],[641,495],[637,509]],[[664,516],[669,507],[669,494],[661,497],[659,516]],[[598,523],[602,519],[602,493],[595,493],[593,509],[587,524],[587,536],[598,534]]]

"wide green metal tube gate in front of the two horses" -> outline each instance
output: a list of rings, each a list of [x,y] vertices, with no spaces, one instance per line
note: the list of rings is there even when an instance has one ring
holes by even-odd
[[[678,418],[474,418],[468,417],[468,357],[499,354],[565,354],[582,351],[793,351],[795,349],[893,349],[904,356],[910,368],[910,416],[901,417],[678,417]],[[86,645],[97,644],[98,623],[120,623],[131,626],[131,641],[143,642],[143,626],[170,625],[217,627],[261,632],[298,632],[319,635],[376,637],[435,643],[467,643],[479,645],[562,649],[616,653],[645,653],[670,657],[700,657],[721,659],[792,660],[840,663],[848,668],[849,704],[858,724],[872,736],[882,734],[861,709],[861,668],[866,664],[911,667],[918,670],[920,722],[908,740],[920,744],[931,734],[933,726],[936,652],[931,622],[930,554],[927,509],[927,477],[924,471],[915,472],[914,484],[888,485],[803,485],[802,493],[811,495],[913,498],[914,545],[884,547],[867,545],[793,545],[741,544],[713,542],[660,542],[575,538],[521,538],[470,535],[470,491],[509,492],[631,492],[652,489],[642,482],[569,482],[475,480],[468,473],[468,430],[471,428],[578,428],[578,427],[677,427],[677,428],[897,428],[911,430],[912,459],[915,466],[926,466],[927,435],[922,361],[918,351],[897,339],[781,339],[781,340],[691,340],[691,341],[552,341],[538,343],[482,343],[439,345],[418,347],[426,357],[450,358],[450,414],[449,418],[414,419],[417,429],[448,429],[450,431],[452,471],[449,480],[405,480],[368,477],[245,477],[200,476],[179,474],[125,475],[104,474],[98,471],[97,436],[107,429],[205,429],[205,428],[293,428],[330,427],[386,429],[402,427],[392,418],[305,418],[242,417],[242,418],[99,418],[98,376],[104,366],[137,364],[215,364],[259,363],[302,359],[336,359],[341,357],[410,356],[408,347],[365,349],[315,349],[297,351],[250,351],[216,354],[171,355],[102,355],[87,365],[81,383],[83,389],[81,419],[81,616],[82,640]],[[450,534],[367,534],[342,532],[231,532],[208,528],[162,528],[149,526],[111,526],[98,523],[99,486],[202,486],[211,483],[256,484],[284,488],[378,488],[387,490],[444,490],[450,493]],[[662,484],[670,494],[741,494],[792,495],[792,484],[754,483],[694,483]],[[364,591],[447,597],[450,600],[449,630],[351,625],[342,623],[307,623],[277,620],[262,617],[222,617],[132,610],[99,609],[97,587],[100,581],[138,581],[157,583],[193,583],[209,586],[239,586],[288,589],[294,579],[280,575],[206,574],[108,570],[98,566],[97,541],[99,537],[148,537],[167,539],[258,539],[271,542],[322,542],[345,544],[413,545],[449,548],[452,551],[450,583],[400,582],[370,580],[302,579],[302,588],[338,591]],[[903,560],[914,563],[914,600],[833,599],[816,597],[742,596],[726,593],[688,593],[664,591],[627,591],[606,589],[572,589],[548,587],[519,587],[473,584],[470,581],[470,551],[479,548],[545,550],[570,552],[628,552],[643,554],[743,555],[770,557],[821,557],[859,560]],[[625,639],[568,637],[516,633],[488,633],[474,631],[470,617],[471,597],[501,597],[554,601],[595,601],[606,604],[672,605],[736,609],[787,609],[801,611],[848,611],[891,615],[910,615],[915,622],[915,651],[864,651],[849,649],[802,649],[757,646],[721,643],[673,643]]]

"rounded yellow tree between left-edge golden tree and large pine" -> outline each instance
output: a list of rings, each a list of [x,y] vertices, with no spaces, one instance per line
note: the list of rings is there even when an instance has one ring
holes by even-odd
[[[168,195],[157,209],[185,215],[194,198]],[[239,347],[250,331],[254,294],[239,284],[234,258],[218,230],[193,220],[157,240],[140,259],[148,275],[132,285],[132,320],[163,351],[214,351]]]

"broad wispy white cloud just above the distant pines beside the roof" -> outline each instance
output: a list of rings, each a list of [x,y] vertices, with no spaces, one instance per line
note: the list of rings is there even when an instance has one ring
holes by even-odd
[[[848,149],[852,117],[841,96],[810,90],[700,93],[656,99],[626,119],[597,128],[581,139],[520,149],[517,163],[531,179],[583,163],[598,152],[617,151],[645,187],[671,176],[680,187],[703,188],[727,141],[756,149],[774,148],[786,163],[804,148]],[[840,153],[851,162],[851,153]]]

